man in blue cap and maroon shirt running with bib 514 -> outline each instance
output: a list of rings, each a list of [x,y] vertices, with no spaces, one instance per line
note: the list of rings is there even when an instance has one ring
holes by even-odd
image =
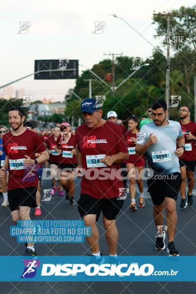
[[[129,156],[122,131],[115,123],[101,119],[102,110],[96,99],[87,98],[81,103],[84,122],[75,132],[77,140],[76,173],[83,177],[78,211],[85,225],[91,226],[87,237],[92,255],[100,259],[98,221],[103,213],[105,238],[109,254],[117,258],[118,230],[116,216],[123,206],[123,182],[120,163]],[[116,172],[115,172],[116,171]]]

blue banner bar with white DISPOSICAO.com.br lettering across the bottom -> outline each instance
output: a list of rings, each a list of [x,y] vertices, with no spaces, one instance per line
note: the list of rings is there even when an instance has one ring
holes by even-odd
[[[196,256],[0,256],[0,281],[196,281]]]

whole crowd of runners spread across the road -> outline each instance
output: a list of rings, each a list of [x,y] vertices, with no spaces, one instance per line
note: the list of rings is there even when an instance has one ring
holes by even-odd
[[[116,259],[116,216],[123,207],[127,191],[130,211],[137,211],[138,205],[145,209],[145,178],[158,230],[155,248],[164,250],[166,247],[166,233],[160,229],[165,209],[167,251],[171,256],[179,255],[174,245],[176,199],[180,193],[180,207],[192,206],[195,183],[196,123],[190,121],[189,106],[179,108],[179,123],[167,119],[167,105],[162,99],[148,107],[147,118],[142,120],[133,114],[122,121],[115,111],[109,111],[104,120],[101,107],[96,106],[92,98],[81,102],[81,113],[84,123],[75,132],[64,122],[55,123],[50,130],[40,133],[26,120],[22,107],[9,109],[11,130],[0,125],[1,206],[9,205],[15,223],[30,220],[31,208],[35,208],[34,216],[41,216],[43,168],[51,178],[49,195],[58,192],[74,205],[74,180],[76,176],[81,177],[78,212],[85,225],[91,226],[91,236],[86,238],[92,255],[101,262],[96,224],[101,211],[109,255]],[[25,255],[36,256],[33,243],[25,244]]]

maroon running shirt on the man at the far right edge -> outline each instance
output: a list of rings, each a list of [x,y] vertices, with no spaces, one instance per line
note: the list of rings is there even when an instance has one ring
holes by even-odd
[[[191,144],[192,151],[185,150],[183,155],[181,157],[179,157],[179,159],[185,159],[187,161],[196,160],[195,140],[188,140],[186,138],[186,131],[190,131],[193,136],[196,136],[196,123],[194,123],[194,122],[190,122],[187,124],[180,123],[180,125],[182,127],[182,132],[184,134],[185,144]]]

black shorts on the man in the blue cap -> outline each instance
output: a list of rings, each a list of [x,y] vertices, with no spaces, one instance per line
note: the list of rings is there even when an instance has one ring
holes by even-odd
[[[95,214],[97,215],[96,221],[98,221],[102,211],[107,220],[115,220],[123,202],[124,200],[119,200],[118,197],[97,199],[87,194],[80,194],[77,209],[82,219],[89,214]]]

